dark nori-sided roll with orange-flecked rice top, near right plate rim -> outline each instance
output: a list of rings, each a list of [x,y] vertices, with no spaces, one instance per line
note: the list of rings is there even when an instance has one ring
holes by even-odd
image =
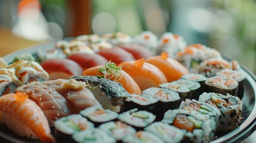
[[[232,77],[212,76],[205,80],[206,92],[238,95],[238,82]]]

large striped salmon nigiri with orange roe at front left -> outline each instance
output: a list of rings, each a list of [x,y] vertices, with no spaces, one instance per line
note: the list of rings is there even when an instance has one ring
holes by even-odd
[[[17,92],[0,97],[0,122],[20,136],[55,142],[44,112],[26,94]]]

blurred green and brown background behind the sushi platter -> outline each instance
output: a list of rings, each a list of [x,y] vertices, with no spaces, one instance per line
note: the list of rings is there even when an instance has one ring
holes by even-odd
[[[215,48],[256,73],[255,7],[255,0],[0,0],[0,56],[51,39],[150,30]]]

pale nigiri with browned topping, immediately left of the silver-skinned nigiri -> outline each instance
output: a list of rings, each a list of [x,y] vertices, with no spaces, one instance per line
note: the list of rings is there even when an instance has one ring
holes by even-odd
[[[79,113],[85,108],[100,105],[92,92],[85,88],[85,82],[77,82],[75,79],[56,79],[42,82],[42,84],[51,86],[63,95],[69,103],[72,113]]]

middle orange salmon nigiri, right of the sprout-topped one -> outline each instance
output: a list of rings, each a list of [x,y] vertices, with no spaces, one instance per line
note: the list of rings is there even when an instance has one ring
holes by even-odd
[[[153,64],[145,63],[144,58],[137,61],[125,61],[118,66],[134,79],[141,91],[159,87],[162,83],[167,82],[165,74]]]

